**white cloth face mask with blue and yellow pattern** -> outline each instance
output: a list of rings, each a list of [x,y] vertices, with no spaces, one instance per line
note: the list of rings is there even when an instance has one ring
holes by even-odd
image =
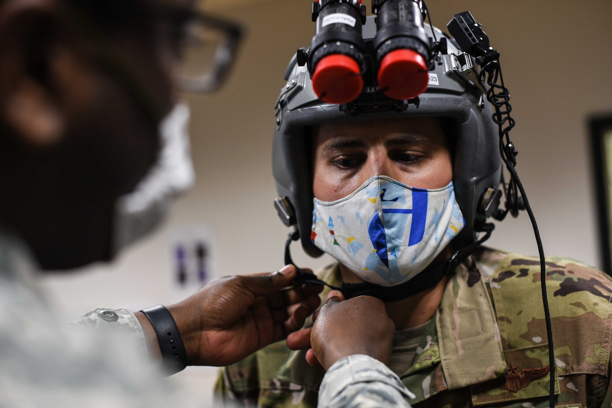
[[[465,226],[452,181],[426,190],[375,176],[343,199],[314,201],[313,244],[382,286],[414,278]]]

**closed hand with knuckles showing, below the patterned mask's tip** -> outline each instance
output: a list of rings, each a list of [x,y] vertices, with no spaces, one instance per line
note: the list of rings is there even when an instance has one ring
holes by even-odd
[[[312,328],[287,337],[292,350],[307,349],[310,365],[323,365],[327,371],[342,357],[365,354],[389,363],[395,332],[384,303],[376,297],[359,296],[345,300],[339,291],[327,295],[326,304],[315,313]]]

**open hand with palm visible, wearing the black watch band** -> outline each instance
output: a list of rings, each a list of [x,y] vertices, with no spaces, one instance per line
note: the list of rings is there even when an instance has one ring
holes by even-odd
[[[233,364],[300,329],[321,303],[318,293],[323,287],[286,289],[295,276],[295,266],[285,266],[271,274],[223,277],[169,306],[185,343],[188,363]],[[147,345],[157,344],[146,317],[136,316],[143,324]],[[156,351],[160,357],[159,346]]]

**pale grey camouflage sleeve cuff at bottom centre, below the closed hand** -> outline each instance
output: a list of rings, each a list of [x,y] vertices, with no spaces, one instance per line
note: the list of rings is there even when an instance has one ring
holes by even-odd
[[[389,368],[368,355],[349,355],[332,365],[321,382],[321,408],[410,407],[416,398]]]

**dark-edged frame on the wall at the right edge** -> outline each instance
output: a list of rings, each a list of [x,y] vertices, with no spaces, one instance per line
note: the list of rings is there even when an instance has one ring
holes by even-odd
[[[602,269],[612,276],[612,112],[589,121]]]

